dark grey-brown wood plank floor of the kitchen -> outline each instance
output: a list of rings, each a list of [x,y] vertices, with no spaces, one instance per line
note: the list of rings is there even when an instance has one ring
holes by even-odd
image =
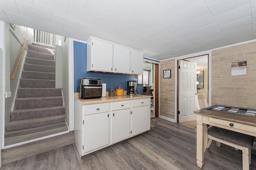
[[[65,140],[65,139],[63,139]],[[151,130],[80,159],[75,145],[3,165],[0,170],[201,170],[196,165],[196,128],[151,119]],[[242,170],[242,152],[215,143],[206,149],[202,170]],[[256,170],[252,150],[250,170]]]

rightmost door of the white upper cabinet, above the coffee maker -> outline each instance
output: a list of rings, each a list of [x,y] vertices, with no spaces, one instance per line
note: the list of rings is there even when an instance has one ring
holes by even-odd
[[[143,53],[132,50],[131,73],[143,74]]]

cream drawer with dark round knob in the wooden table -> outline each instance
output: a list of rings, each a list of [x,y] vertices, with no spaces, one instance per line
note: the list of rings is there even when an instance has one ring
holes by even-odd
[[[236,122],[232,122],[232,121],[228,121],[228,120],[222,120],[222,119],[217,119],[217,118],[213,118],[213,117],[209,117],[209,122],[210,123],[216,123],[218,125],[223,125],[229,128],[234,128],[234,129],[239,129],[239,130],[243,130],[243,131],[256,131],[256,127],[254,126],[250,126],[250,125],[245,125],[242,123],[236,123]],[[233,126],[230,126],[230,123],[233,124]]]

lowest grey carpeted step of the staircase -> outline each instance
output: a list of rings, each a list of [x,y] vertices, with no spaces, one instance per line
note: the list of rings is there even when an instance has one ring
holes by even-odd
[[[48,116],[48,117],[40,117],[35,119],[10,121],[9,123],[6,124],[6,131],[28,129],[32,127],[39,127],[39,126],[50,125],[50,124],[60,123],[60,122],[65,122],[65,114]]]

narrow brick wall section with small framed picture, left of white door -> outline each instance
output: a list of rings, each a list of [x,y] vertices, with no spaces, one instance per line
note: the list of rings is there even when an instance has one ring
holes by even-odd
[[[171,119],[174,113],[174,73],[175,59],[160,62],[160,115]],[[171,78],[163,78],[163,70],[171,70]]]

